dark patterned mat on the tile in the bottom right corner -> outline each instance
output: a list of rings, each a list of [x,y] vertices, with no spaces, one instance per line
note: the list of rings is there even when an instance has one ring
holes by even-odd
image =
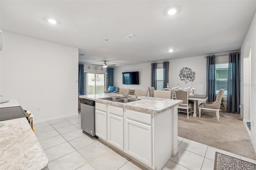
[[[256,164],[215,152],[214,170],[256,170]]]

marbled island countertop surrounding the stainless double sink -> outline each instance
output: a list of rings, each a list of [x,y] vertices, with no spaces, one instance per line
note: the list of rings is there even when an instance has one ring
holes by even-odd
[[[132,101],[128,103],[119,103],[119,102],[106,101],[106,100],[99,99],[103,97],[112,97],[117,95],[119,94],[103,93],[103,94],[96,94],[96,95],[81,95],[80,97],[83,99],[89,99],[89,100],[93,100],[100,103],[105,103],[109,105],[124,107],[127,109],[134,109],[137,111],[144,111],[147,113],[155,113],[155,114],[167,111],[172,107],[182,103],[182,100],[174,100],[174,99],[153,100],[153,99],[144,99],[144,97],[138,97],[138,99],[141,99],[141,100]]]

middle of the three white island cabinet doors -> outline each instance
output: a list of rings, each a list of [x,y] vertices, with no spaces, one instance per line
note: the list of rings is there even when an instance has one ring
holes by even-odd
[[[124,118],[108,114],[108,142],[124,150]]]

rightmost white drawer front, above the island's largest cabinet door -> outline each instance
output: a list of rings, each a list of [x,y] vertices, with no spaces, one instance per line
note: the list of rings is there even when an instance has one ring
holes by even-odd
[[[141,123],[152,124],[152,115],[136,111],[126,110],[126,117]]]

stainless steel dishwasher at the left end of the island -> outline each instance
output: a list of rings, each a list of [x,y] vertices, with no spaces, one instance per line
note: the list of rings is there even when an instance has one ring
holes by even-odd
[[[95,136],[95,101],[81,99],[81,129]]]

